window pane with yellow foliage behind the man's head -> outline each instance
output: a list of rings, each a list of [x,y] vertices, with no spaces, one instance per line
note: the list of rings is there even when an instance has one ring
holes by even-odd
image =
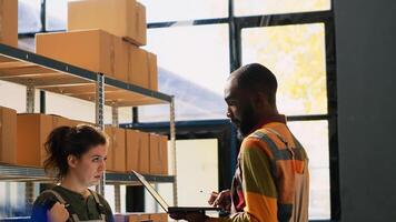
[[[251,62],[276,74],[283,113],[327,113],[323,23],[242,29],[242,63]]]

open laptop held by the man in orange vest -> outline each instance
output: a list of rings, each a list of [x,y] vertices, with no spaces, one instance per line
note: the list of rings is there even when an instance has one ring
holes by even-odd
[[[220,208],[211,206],[169,206],[162,196],[147,182],[143,175],[132,171],[135,176],[141,182],[146,190],[152,195],[157,203],[164,209],[165,212],[169,213],[180,213],[180,212],[200,212],[205,213],[206,211],[221,211]]]

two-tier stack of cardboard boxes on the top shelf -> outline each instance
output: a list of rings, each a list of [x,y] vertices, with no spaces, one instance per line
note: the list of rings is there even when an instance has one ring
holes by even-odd
[[[156,54],[146,44],[146,8],[136,0],[68,2],[68,31],[36,36],[36,52],[158,90]]]

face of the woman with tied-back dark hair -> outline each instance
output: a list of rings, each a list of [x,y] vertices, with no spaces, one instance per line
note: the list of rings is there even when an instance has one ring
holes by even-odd
[[[107,147],[97,145],[77,159],[70,172],[75,173],[81,185],[92,186],[99,184],[106,170]]]

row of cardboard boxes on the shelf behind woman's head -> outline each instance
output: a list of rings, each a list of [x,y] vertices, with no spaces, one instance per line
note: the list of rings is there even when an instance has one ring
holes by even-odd
[[[0,162],[43,167],[43,144],[49,133],[61,125],[85,123],[53,114],[21,113],[0,107]],[[168,174],[168,138],[130,129],[106,127],[109,137],[107,170],[143,174]]]

